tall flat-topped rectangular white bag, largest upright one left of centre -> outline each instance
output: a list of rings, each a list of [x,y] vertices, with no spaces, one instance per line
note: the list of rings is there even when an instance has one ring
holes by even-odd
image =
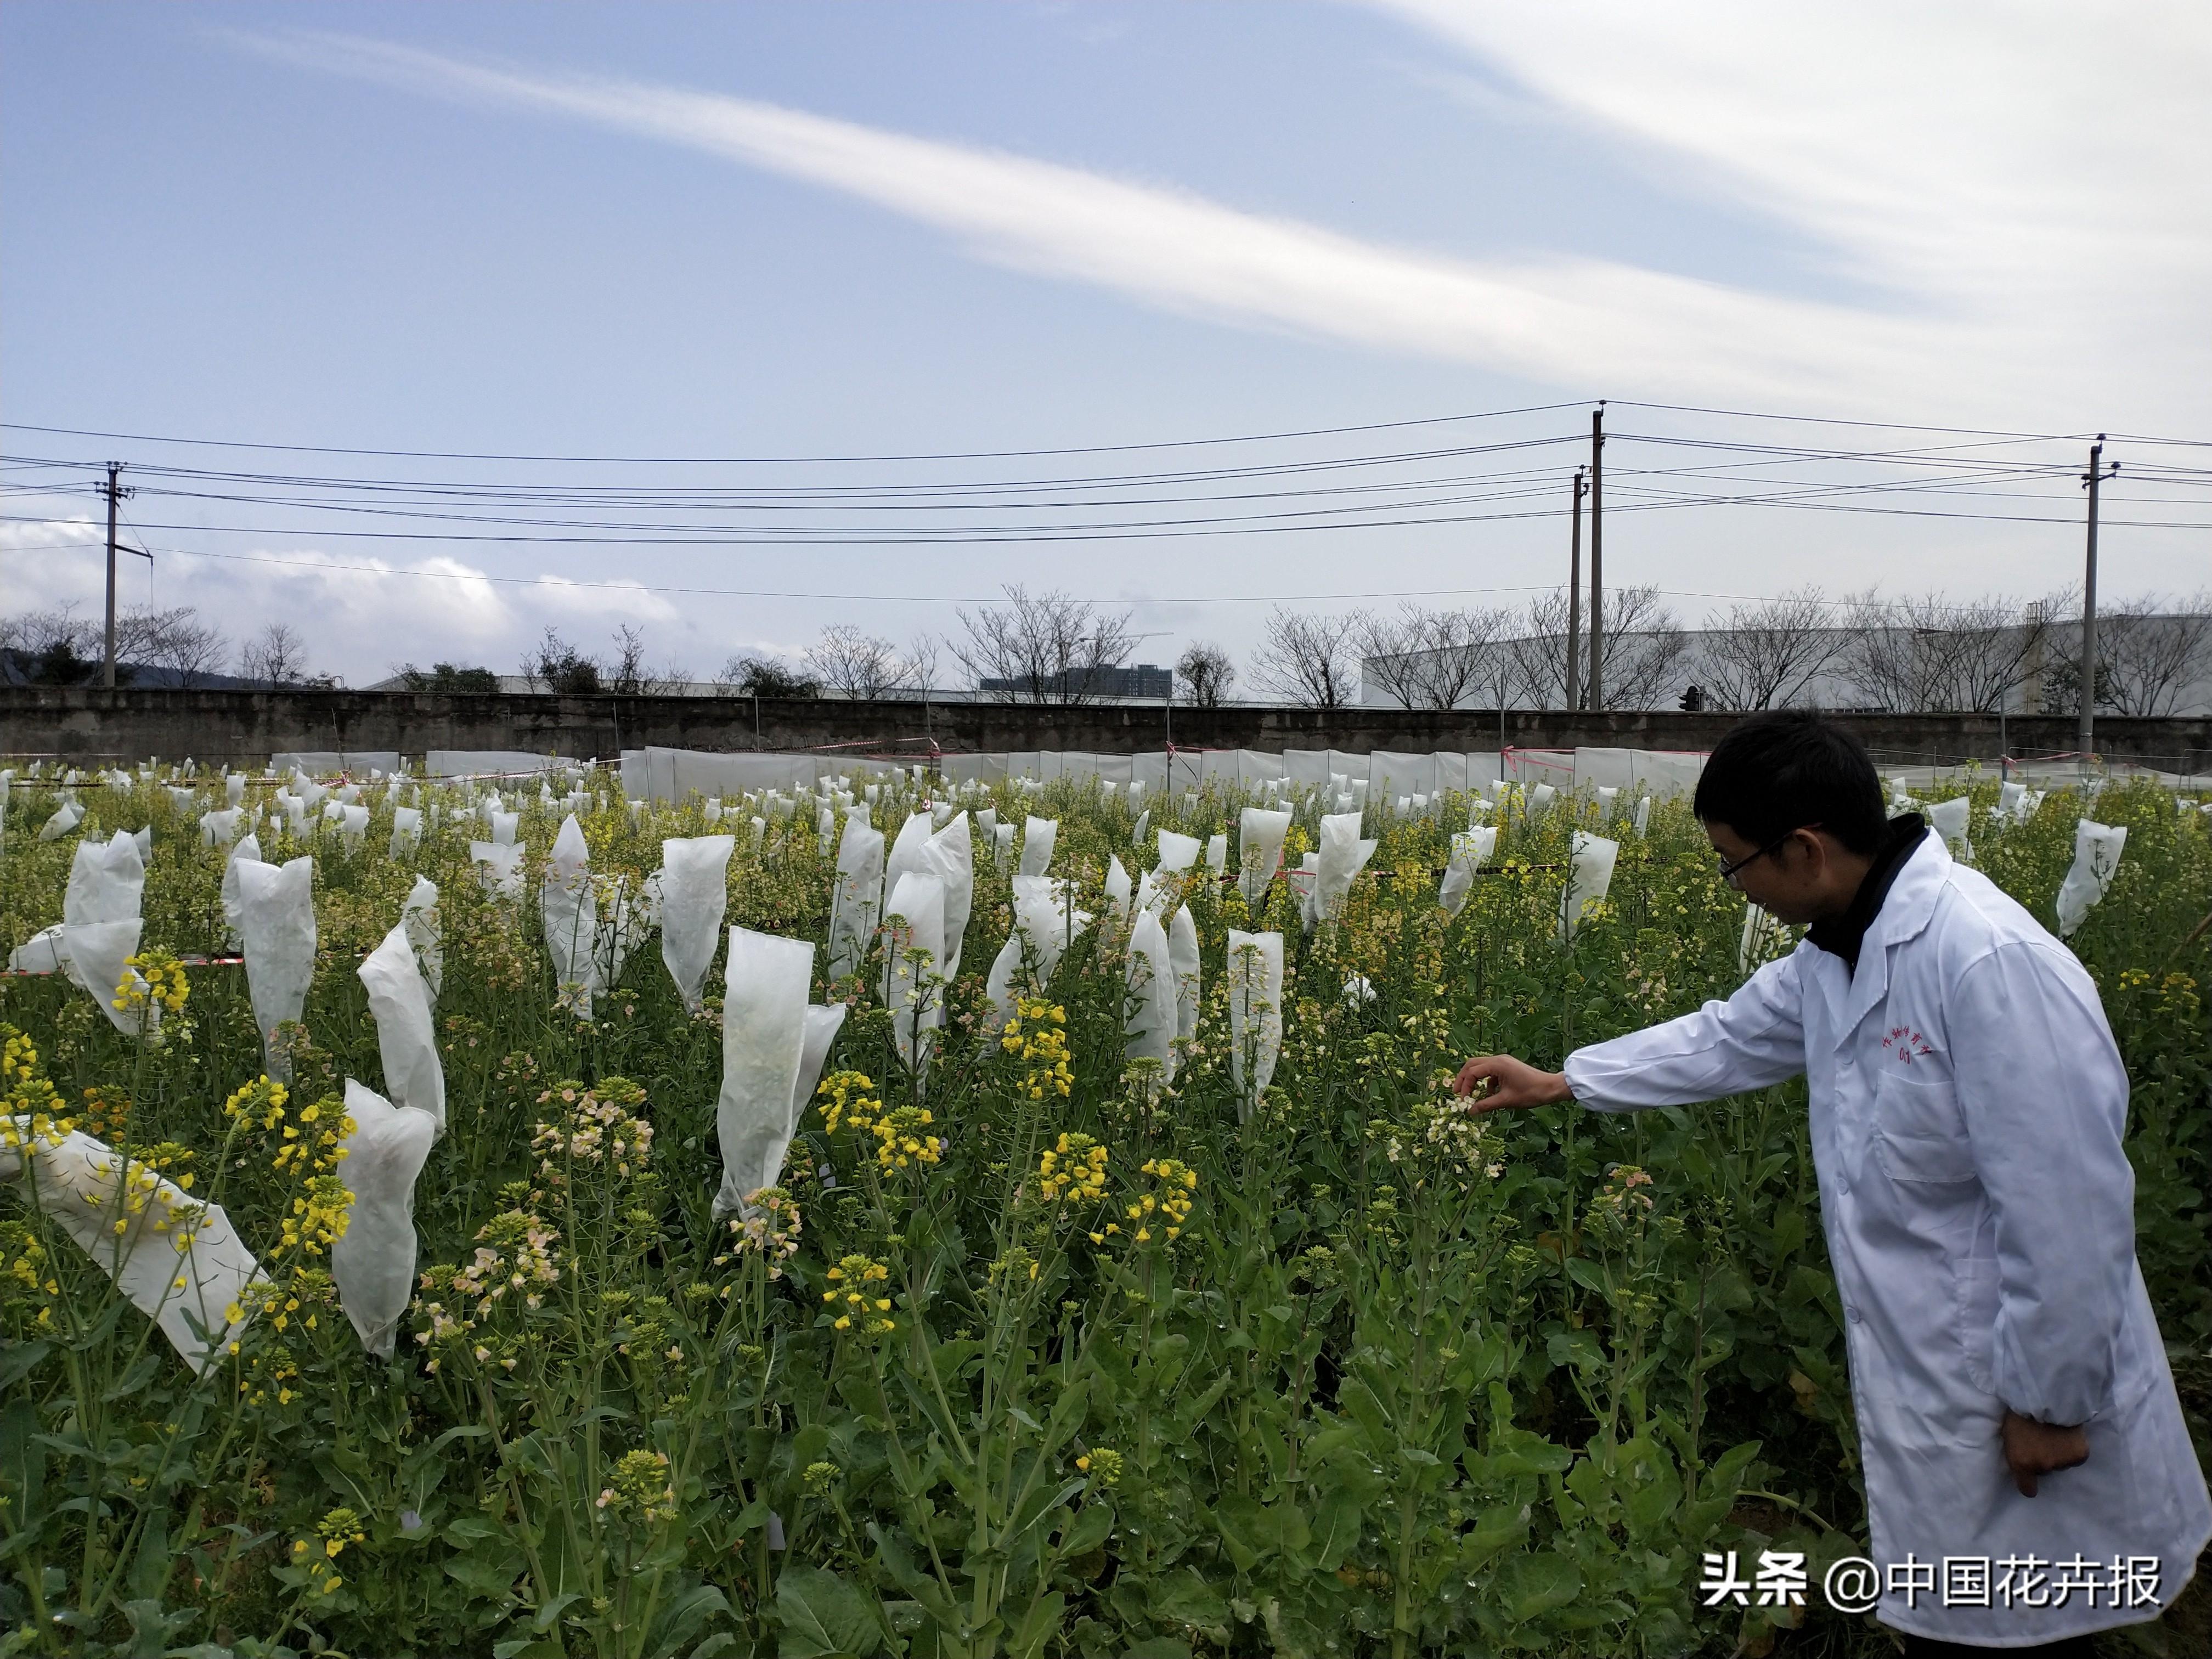
[[[714,1219],[774,1186],[792,1144],[792,1097],[805,1060],[814,947],[805,940],[730,929],[721,1000],[721,1186]]]

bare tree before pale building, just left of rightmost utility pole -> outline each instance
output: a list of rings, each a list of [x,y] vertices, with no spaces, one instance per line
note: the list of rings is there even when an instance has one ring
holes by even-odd
[[[2042,661],[2053,606],[1984,595],[1854,595],[1840,664],[1858,697],[1887,712],[1991,712]]]

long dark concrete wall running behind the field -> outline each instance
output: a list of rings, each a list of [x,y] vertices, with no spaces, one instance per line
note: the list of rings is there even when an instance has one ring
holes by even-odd
[[[613,757],[668,745],[692,750],[814,750],[927,754],[975,750],[1336,748],[1495,750],[1621,745],[1708,750],[1739,717],[1674,712],[1568,714],[1517,710],[1175,708],[1117,703],[847,703],[750,697],[447,697],[416,692],[215,692],[0,686],[0,752],[66,759],[259,759],[276,750],[529,750]],[[1960,761],[2000,754],[1993,714],[1845,714],[1876,759]],[[2015,757],[2075,748],[2073,719],[2004,721]],[[2212,719],[2097,721],[2112,759],[2212,772]]]

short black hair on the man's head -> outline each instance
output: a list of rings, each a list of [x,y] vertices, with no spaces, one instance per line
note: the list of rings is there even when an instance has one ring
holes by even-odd
[[[1712,745],[1692,810],[1761,847],[1816,823],[1858,854],[1878,852],[1889,823],[1865,745],[1801,708],[1732,726]]]

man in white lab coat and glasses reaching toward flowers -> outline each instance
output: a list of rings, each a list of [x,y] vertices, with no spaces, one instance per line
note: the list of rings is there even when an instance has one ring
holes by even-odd
[[[1858,739],[1814,714],[1730,730],[1694,805],[1723,878],[1809,925],[1798,949],[1564,1071],[1469,1060],[1460,1093],[1637,1110],[1805,1073],[1876,1617],[1907,1655],[2086,1655],[2157,1617],[2212,1540],[2097,987],[1918,816],[1885,821]]]

